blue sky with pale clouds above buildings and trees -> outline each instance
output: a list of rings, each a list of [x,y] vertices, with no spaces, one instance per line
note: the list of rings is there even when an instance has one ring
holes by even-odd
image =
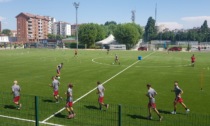
[[[79,24],[129,23],[131,11],[135,11],[135,23],[140,26],[145,26],[149,17],[156,17],[157,25],[170,30],[200,27],[205,20],[210,26],[210,0],[0,0],[2,29],[16,30],[16,16],[21,12],[75,24],[74,2],[79,3]]]

